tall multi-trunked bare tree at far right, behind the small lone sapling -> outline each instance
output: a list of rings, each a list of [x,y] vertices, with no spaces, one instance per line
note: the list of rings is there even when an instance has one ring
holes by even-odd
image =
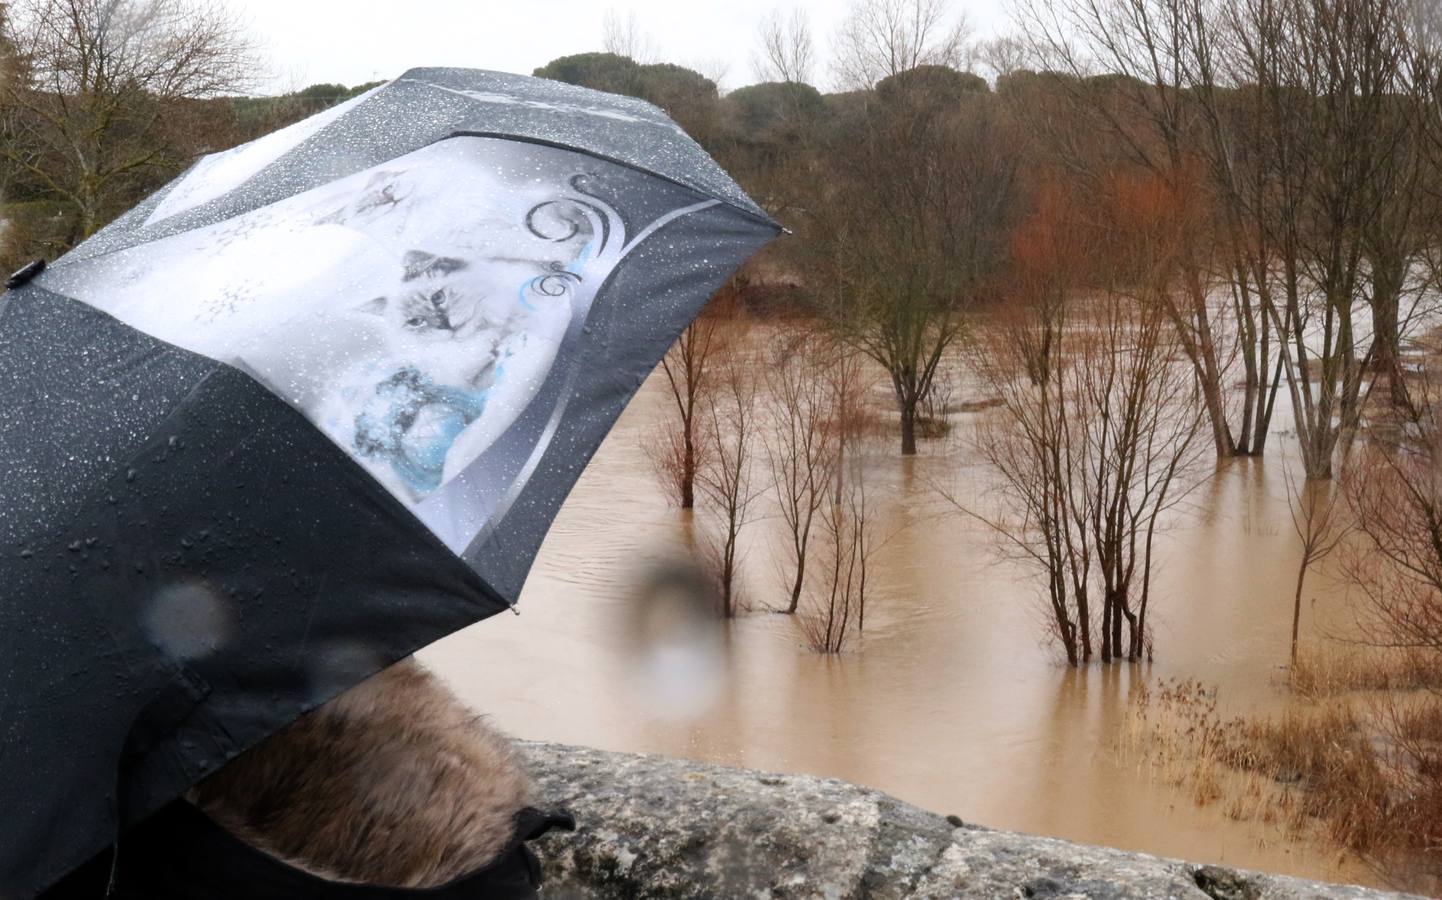
[[[1242,195],[1257,235],[1252,283],[1282,338],[1309,479],[1331,477],[1361,423],[1377,346],[1363,345],[1357,316],[1373,299],[1370,274],[1384,274],[1368,271],[1368,235],[1377,255],[1376,226],[1405,226],[1389,208],[1417,193],[1399,192],[1407,167],[1396,164],[1412,131],[1406,10],[1393,0],[1226,9],[1223,62],[1234,84],[1255,85],[1244,98],[1257,188]]]

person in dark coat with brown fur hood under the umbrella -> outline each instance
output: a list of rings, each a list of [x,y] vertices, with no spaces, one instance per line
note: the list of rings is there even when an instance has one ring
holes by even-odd
[[[536,896],[526,845],[562,811],[509,740],[414,661],[238,757],[48,900],[348,900]]]

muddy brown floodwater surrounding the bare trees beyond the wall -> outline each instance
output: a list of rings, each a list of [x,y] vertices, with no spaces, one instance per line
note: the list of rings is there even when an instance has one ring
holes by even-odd
[[[949,513],[937,496],[939,483],[959,496],[978,490],[983,472],[965,436],[985,412],[953,415],[953,438],[924,441],[916,459],[897,454],[895,437],[877,440],[867,477],[891,537],[875,558],[864,638],[841,656],[820,656],[790,616],[764,610],[783,601],[783,526],[756,522],[741,575],[754,610],[725,626],[725,678],[711,702],[678,717],[666,685],[647,685],[633,665],[630,614],[645,573],[708,526],[704,515],[666,503],[643,451],[669,402],[653,375],[567,500],[522,614],[496,616],[423,653],[502,728],[841,777],[992,828],[1377,883],[1332,848],[1230,819],[1226,803],[1198,808],[1118,749],[1139,681],[1198,678],[1220,688],[1224,715],[1292,702],[1280,684],[1298,560],[1285,438],[1273,437],[1265,463],[1220,467],[1164,538],[1151,612],[1155,662],[1084,671],[1066,668],[1044,642],[1040,583],[1001,561],[985,528]],[[1279,408],[1275,427],[1288,424]],[[1350,619],[1340,586],[1315,574],[1308,581],[1304,635]]]

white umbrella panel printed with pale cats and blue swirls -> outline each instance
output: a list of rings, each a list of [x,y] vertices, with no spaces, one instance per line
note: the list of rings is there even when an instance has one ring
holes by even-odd
[[[417,505],[531,404],[619,261],[578,177],[545,147],[446,140],[61,287],[104,284],[107,312],[249,372]]]

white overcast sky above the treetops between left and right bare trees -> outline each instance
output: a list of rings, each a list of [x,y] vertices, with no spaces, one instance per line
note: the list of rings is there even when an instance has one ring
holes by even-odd
[[[722,88],[753,84],[757,23],[773,9],[800,7],[825,61],[851,0],[232,0],[260,40],[273,78],[264,92],[316,82],[355,85],[411,66],[454,65],[529,75],[557,56],[601,49],[609,10],[632,13],[659,62],[715,76]],[[985,36],[1005,30],[1004,0],[953,0]]]

